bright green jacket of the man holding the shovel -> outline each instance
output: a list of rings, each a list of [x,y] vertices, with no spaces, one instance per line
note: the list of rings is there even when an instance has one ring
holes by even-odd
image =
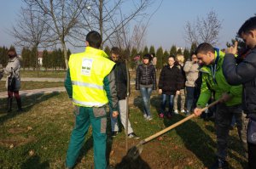
[[[227,106],[232,106],[236,104],[241,104],[241,85],[231,86],[225,79],[222,64],[224,61],[224,53],[215,50],[215,80],[213,80],[212,68],[214,65],[204,65],[201,67],[202,72],[202,84],[201,84],[201,94],[197,101],[197,106],[203,108],[206,106],[208,100],[212,96],[212,92],[215,92],[214,99],[220,99],[223,93],[230,93],[232,98],[225,102]]]

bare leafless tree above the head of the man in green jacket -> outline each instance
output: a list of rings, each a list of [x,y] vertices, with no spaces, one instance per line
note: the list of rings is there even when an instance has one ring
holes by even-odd
[[[189,21],[184,26],[184,39],[192,44],[195,42],[208,42],[212,45],[218,43],[218,34],[222,26],[222,21],[218,20],[218,15],[210,11],[206,18],[197,17],[193,23]]]

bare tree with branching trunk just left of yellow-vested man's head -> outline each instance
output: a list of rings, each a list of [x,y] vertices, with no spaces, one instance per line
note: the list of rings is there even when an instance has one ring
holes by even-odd
[[[67,63],[67,43],[73,42],[73,32],[79,30],[79,16],[85,9],[84,0],[23,0],[26,4],[36,6],[35,11],[47,15],[49,20],[48,43],[60,43],[64,51],[65,65]]]

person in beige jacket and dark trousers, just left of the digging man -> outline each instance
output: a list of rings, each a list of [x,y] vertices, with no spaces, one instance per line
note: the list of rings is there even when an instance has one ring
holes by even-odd
[[[193,54],[191,57],[191,61],[186,61],[183,70],[186,74],[186,99],[187,99],[187,115],[190,114],[191,110],[193,109],[193,105],[195,102],[195,87],[196,87],[196,80],[199,76],[199,65],[197,63],[196,55]]]

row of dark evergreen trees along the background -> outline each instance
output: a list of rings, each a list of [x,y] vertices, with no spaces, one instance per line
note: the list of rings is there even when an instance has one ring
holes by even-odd
[[[11,47],[14,48],[14,47]],[[141,58],[144,54],[155,54],[157,57],[157,65],[156,68],[158,70],[162,69],[163,65],[167,63],[168,56],[173,55],[176,56],[177,54],[183,54],[185,59],[189,59],[191,54],[194,52],[196,48],[196,44],[193,43],[191,45],[190,50],[185,48],[183,51],[181,48],[178,48],[175,45],[172,45],[172,48],[168,52],[167,50],[163,50],[163,48],[154,49],[154,46],[150,46],[143,48],[143,51],[137,51],[137,48],[129,49],[122,49],[121,56],[123,56],[126,60],[128,60],[128,65],[131,69],[135,69],[137,62],[134,60],[134,57],[140,55]],[[107,46],[104,48],[104,51],[110,56],[110,48]],[[0,47],[0,63],[5,66],[8,63],[8,56],[7,56],[8,48]],[[66,70],[65,60],[63,51],[61,48],[55,49],[53,51],[44,50],[43,52],[43,65],[38,65],[38,54],[37,48],[23,48],[21,51],[22,56],[22,63],[21,67],[23,69],[29,68],[35,70],[38,66],[43,66],[45,70],[49,69],[64,69]],[[70,50],[68,49],[68,58],[71,54]]]

